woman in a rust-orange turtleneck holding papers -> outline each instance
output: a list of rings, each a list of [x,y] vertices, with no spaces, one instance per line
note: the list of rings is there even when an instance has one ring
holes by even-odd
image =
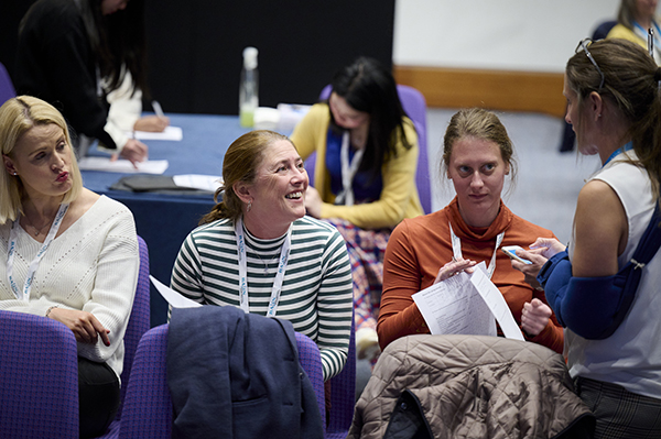
[[[527,284],[499,250],[553,238],[501,200],[506,176],[516,175],[507,130],[492,112],[462,110],[452,117],[443,145],[441,167],[457,195],[443,210],[403,220],[390,237],[377,327],[381,349],[400,337],[430,333],[413,294],[484,261],[525,339],[562,353],[563,331],[544,293]]]

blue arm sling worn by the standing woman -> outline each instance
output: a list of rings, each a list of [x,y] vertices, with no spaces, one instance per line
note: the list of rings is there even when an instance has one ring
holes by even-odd
[[[573,277],[567,252],[551,257],[538,275],[557,321],[589,340],[613,334],[627,316],[642,268],[661,246],[659,205],[633,256],[613,276]]]

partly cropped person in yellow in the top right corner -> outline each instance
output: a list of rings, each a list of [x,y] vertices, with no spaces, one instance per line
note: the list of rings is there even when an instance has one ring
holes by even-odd
[[[622,39],[648,48],[648,30],[654,32],[653,56],[661,64],[661,28],[657,22],[658,0],[621,0],[617,13],[617,24],[608,32],[607,39]]]

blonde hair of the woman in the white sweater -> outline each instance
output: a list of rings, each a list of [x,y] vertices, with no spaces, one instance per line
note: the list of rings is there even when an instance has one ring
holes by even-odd
[[[64,117],[52,105],[32,96],[19,96],[9,99],[0,107],[0,150],[3,155],[12,157],[13,150],[23,134],[33,127],[54,123],[62,129],[66,146],[71,154],[69,176],[72,188],[64,195],[62,202],[72,202],[83,191],[83,176],[78,169],[76,156],[72,150],[72,139]],[[0,224],[14,221],[22,212],[22,200],[25,189],[20,178],[10,175],[3,166],[0,173]]]

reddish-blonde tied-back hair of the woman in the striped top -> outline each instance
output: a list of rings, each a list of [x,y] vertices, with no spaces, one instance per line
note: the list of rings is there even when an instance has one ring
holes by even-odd
[[[274,131],[257,130],[241,135],[229,145],[223,160],[223,186],[214,195],[214,201],[218,201],[219,197],[223,201],[214,206],[212,211],[199,220],[199,224],[224,218],[236,221],[241,216],[242,201],[234,191],[235,183],[253,183],[257,169],[264,158],[264,152],[281,140],[292,143],[286,135]]]

